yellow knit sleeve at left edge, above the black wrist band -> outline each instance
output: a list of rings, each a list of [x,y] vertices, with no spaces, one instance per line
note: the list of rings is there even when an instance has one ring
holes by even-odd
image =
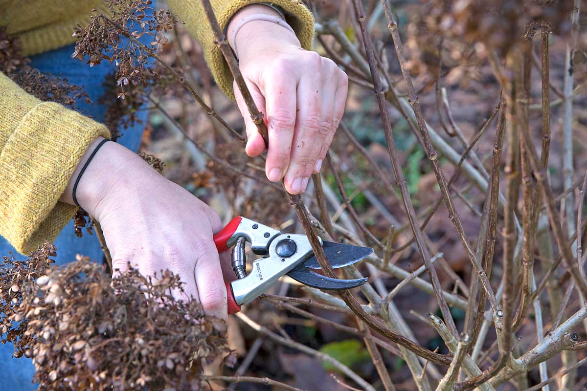
[[[0,73],[0,234],[20,253],[54,240],[76,207],[59,202],[104,125],[31,96]],[[5,255],[5,254],[0,254]]]

